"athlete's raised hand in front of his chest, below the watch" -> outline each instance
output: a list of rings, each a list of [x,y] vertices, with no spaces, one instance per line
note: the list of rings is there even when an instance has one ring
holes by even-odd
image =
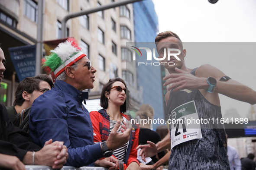
[[[173,89],[173,92],[183,90],[183,89],[207,89],[209,87],[207,83],[207,78],[205,77],[196,77],[192,75],[190,72],[186,72],[182,69],[175,68],[175,71],[178,73],[172,73],[168,76],[165,76],[163,80],[167,80],[164,84],[164,86],[167,86],[169,84],[172,84],[168,91]],[[172,78],[172,79],[170,79]]]

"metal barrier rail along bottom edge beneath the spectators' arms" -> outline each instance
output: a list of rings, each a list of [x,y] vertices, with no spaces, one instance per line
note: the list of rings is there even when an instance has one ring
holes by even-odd
[[[25,165],[26,170],[53,170],[52,167],[42,165]],[[60,170],[107,170],[104,167],[70,167],[63,166]]]

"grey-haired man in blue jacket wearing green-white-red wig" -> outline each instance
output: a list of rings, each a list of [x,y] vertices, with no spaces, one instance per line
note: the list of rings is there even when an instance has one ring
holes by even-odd
[[[93,127],[88,110],[84,107],[88,92],[93,88],[96,69],[91,61],[81,52],[74,38],[69,38],[45,57],[43,67],[54,73],[55,87],[37,98],[29,114],[29,131],[38,145],[49,139],[63,141],[68,148],[67,166],[96,166],[118,168],[118,161],[113,157],[97,161],[106,156],[107,150],[115,150],[129,140],[131,129],[123,127],[110,134],[106,145],[94,145]],[[84,102],[84,104],[83,104]],[[107,148],[107,149],[106,149]],[[107,157],[107,156],[106,156]]]

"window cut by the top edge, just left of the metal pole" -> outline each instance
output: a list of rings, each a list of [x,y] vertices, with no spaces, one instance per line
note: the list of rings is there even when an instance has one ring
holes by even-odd
[[[34,22],[37,22],[37,4],[32,0],[24,1],[24,14]]]

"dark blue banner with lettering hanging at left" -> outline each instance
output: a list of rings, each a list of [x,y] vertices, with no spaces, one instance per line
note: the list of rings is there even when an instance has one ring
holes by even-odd
[[[19,82],[27,77],[35,76],[36,45],[25,45],[8,48]]]

